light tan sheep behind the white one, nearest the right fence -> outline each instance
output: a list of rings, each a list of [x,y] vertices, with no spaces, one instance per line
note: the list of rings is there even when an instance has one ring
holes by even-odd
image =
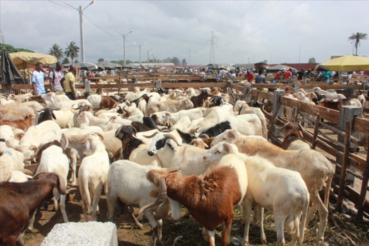
[[[308,187],[310,199],[314,207],[309,209],[306,223],[319,212],[319,230],[315,238],[316,242],[323,241],[324,229],[327,223],[328,202],[333,178],[333,168],[329,160],[315,150],[283,150],[270,142],[258,139],[239,138],[234,130],[227,130],[216,136],[211,146],[214,147],[220,141],[235,144],[241,153],[259,155],[270,160],[276,167],[297,171]],[[324,203],[319,197],[319,191],[325,183]]]

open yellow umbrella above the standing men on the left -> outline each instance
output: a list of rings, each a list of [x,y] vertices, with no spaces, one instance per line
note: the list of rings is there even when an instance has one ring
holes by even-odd
[[[37,62],[40,62],[45,66],[50,66],[57,63],[57,60],[53,55],[30,52],[16,52],[10,53],[9,55],[18,70],[34,68]]]

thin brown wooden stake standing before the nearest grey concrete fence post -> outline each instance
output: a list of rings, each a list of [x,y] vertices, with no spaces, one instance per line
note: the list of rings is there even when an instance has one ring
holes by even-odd
[[[346,174],[347,174],[347,164],[348,164],[348,155],[350,155],[350,137],[351,137],[351,122],[346,121],[346,133],[344,137],[344,151],[342,157],[342,165],[341,165],[341,175],[339,181],[339,190],[337,196],[336,210],[342,209],[344,191],[346,189]]]

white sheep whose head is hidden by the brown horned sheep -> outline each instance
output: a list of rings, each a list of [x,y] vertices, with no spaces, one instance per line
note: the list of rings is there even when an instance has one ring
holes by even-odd
[[[138,205],[140,208],[152,203],[155,198],[150,196],[150,192],[156,187],[146,179],[146,174],[150,170],[157,170],[155,166],[141,166],[138,163],[129,160],[118,160],[112,163],[108,172],[108,220],[111,221],[116,207],[120,208],[120,204],[124,203],[127,206]],[[159,204],[157,204],[159,205]],[[151,246],[155,245],[156,239],[163,244],[161,238],[162,218],[168,216],[171,212],[171,218],[174,221],[180,219],[181,206],[177,201],[166,199],[159,206],[146,209],[145,216],[148,218],[153,227],[153,236],[150,240]],[[152,212],[156,212],[153,216]],[[118,214],[118,216],[120,213]],[[137,221],[132,212],[131,218],[135,225],[143,230],[142,225]]]

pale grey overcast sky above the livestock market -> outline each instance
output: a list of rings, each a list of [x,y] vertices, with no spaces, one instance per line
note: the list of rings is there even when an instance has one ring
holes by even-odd
[[[53,2],[53,3],[52,3]],[[0,1],[5,44],[48,53],[53,44],[80,47],[79,14],[64,1]],[[66,0],[75,8],[91,1]],[[57,5],[57,4],[59,5]],[[103,1],[84,10],[85,61],[155,56],[210,63],[318,63],[353,53],[352,33],[369,34],[369,1]],[[90,19],[90,20],[88,20]],[[93,24],[94,23],[94,24]],[[96,27],[97,26],[97,27]],[[137,43],[136,45],[134,43]],[[300,47],[301,46],[301,47]],[[358,55],[369,56],[362,40]],[[78,57],[79,60],[80,54]]]

